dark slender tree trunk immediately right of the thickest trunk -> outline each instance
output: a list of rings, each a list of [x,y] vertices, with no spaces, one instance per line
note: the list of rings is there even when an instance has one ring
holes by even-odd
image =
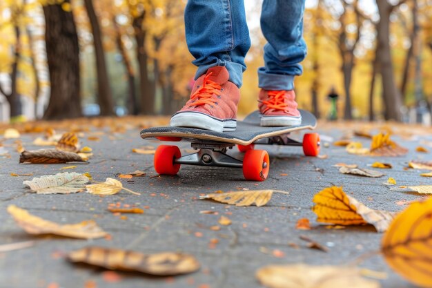
[[[93,7],[92,0],[84,0],[90,26],[92,28],[93,44],[95,46],[96,56],[96,71],[97,71],[97,102],[101,109],[101,115],[114,115],[114,104],[112,101],[112,93],[110,88],[110,80],[108,78],[108,70],[105,61],[104,46],[102,44],[102,32],[99,26],[99,21]]]

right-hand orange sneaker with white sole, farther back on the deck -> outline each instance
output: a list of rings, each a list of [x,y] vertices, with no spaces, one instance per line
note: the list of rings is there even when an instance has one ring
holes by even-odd
[[[261,126],[295,126],[302,124],[294,90],[261,89],[258,100]]]

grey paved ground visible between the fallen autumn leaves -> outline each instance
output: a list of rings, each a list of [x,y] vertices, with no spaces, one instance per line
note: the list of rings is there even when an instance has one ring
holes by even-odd
[[[300,262],[310,265],[349,265],[356,262],[380,248],[383,234],[370,226],[327,229],[325,224],[315,222],[316,215],[311,211],[313,195],[328,186],[343,186],[346,193],[373,209],[404,209],[406,205],[397,202],[418,200],[421,196],[390,191],[382,182],[386,182],[387,177],[393,177],[401,185],[431,184],[431,178],[420,177],[419,171],[406,171],[404,167],[409,160],[432,160],[431,153],[415,152],[421,140],[432,141],[432,133],[413,135],[409,139],[395,135],[392,139],[409,148],[409,153],[402,157],[377,158],[349,155],[344,147],[333,146],[332,140],[353,130],[342,124],[335,127],[326,124],[318,129],[324,135],[323,144],[330,144],[322,147],[322,155],[328,155],[327,159],[304,157],[302,149],[298,147],[257,146],[266,148],[271,155],[271,171],[265,182],[244,180],[241,169],[197,166],[182,166],[177,176],[157,176],[153,169],[153,155],[131,152],[132,148],[160,144],[141,140],[139,128],[114,137],[105,133],[96,142],[87,139],[88,133],[81,137],[81,142],[93,149],[94,156],[89,164],[76,164],[76,169],[66,171],[90,172],[97,181],[137,169],[145,171],[145,177],[135,177],[132,181],[117,178],[126,188],[140,192],[140,196],[126,191],[106,197],[88,193],[30,193],[22,184],[24,180],[63,172],[61,167],[70,164],[18,164],[19,153],[10,146],[14,140],[5,140],[3,144],[11,157],[0,159],[0,244],[32,240],[35,245],[0,253],[0,287],[253,288],[262,287],[255,279],[255,271],[265,265]],[[341,131],[342,127],[346,131]],[[294,136],[301,137],[301,134]],[[27,150],[40,148],[31,144],[36,136],[26,134],[21,137]],[[363,137],[353,139],[364,142],[366,146],[370,143]],[[188,144],[180,145],[183,153],[190,150]],[[432,148],[429,147],[429,150]],[[237,151],[232,154],[241,157]],[[345,162],[367,168],[367,164],[377,160],[393,164],[393,169],[382,170],[386,176],[377,179],[342,175],[332,166]],[[33,176],[12,177],[10,173],[33,173]],[[242,189],[277,189],[290,194],[274,194],[265,207],[234,207],[198,199],[202,193]],[[117,202],[143,208],[145,213],[128,214],[127,219],[122,219],[107,211],[109,204]],[[10,204],[61,224],[93,219],[112,237],[76,240],[31,236],[18,227],[7,213],[6,207]],[[217,211],[218,215],[199,213],[204,210]],[[210,230],[209,227],[218,225],[221,215],[232,220],[232,224],[221,226],[219,231]],[[308,218],[313,229],[295,229],[300,218]],[[300,240],[301,235],[324,245],[328,252],[309,249],[306,242]],[[213,238],[219,242],[210,244]],[[74,265],[66,260],[68,252],[89,245],[142,253],[182,251],[195,256],[202,268],[186,276],[168,278],[122,272],[114,273],[116,277],[113,277],[106,269]],[[414,287],[393,272],[380,255],[367,258],[359,266],[384,272],[386,278],[380,280],[382,287]]]

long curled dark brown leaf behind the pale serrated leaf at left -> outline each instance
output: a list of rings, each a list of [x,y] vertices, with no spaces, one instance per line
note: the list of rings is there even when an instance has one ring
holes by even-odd
[[[85,162],[77,153],[59,151],[57,149],[40,149],[23,151],[19,155],[19,163],[59,164],[68,162]]]

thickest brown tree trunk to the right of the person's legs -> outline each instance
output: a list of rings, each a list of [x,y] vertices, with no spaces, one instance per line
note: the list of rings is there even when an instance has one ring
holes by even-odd
[[[380,60],[382,80],[382,98],[384,100],[385,119],[402,119],[402,97],[397,89],[393,75],[393,61],[390,49],[390,15],[392,6],[387,1],[377,0],[380,21],[377,23],[377,59]]]

